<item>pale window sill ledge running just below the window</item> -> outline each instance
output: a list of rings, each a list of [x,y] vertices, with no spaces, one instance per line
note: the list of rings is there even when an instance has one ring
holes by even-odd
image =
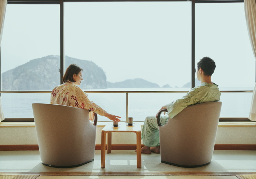
[[[124,123],[124,122],[120,122]],[[143,122],[136,122],[143,125]],[[104,127],[105,125],[112,124],[112,122],[98,122],[97,127]],[[34,122],[0,122],[0,128],[30,128],[34,127]],[[219,122],[219,127],[256,127],[256,122]]]

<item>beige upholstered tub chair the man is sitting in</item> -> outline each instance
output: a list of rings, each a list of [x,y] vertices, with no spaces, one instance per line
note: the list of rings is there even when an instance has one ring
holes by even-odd
[[[158,126],[161,162],[180,167],[200,167],[212,160],[222,102],[186,107],[165,125]],[[166,110],[167,111],[167,110]]]

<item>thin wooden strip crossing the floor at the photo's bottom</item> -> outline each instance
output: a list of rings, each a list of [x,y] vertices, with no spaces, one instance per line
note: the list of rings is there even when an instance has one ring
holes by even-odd
[[[96,176],[96,175],[219,175],[219,176],[236,176],[236,175],[256,175],[256,172],[165,172],[165,171],[136,171],[136,172],[13,172],[0,173],[3,175],[40,175],[40,176]]]

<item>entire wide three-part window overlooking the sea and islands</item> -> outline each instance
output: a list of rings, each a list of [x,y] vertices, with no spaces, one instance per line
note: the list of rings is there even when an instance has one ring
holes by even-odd
[[[80,87],[91,101],[122,121],[143,121],[191,89],[192,35],[195,63],[204,56],[216,62],[221,117],[248,117],[256,72],[243,3],[196,2],[195,34],[191,1],[59,2],[64,27],[59,4],[12,3],[1,43],[6,118],[33,118],[31,103],[49,103],[63,60],[64,71],[71,63],[84,69]]]

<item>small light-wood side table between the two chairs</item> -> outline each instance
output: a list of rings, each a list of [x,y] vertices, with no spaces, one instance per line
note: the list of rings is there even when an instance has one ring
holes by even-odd
[[[101,132],[101,167],[105,168],[105,149],[106,149],[106,134],[108,133],[108,153],[111,153],[111,143],[112,143],[112,132],[134,132],[137,136],[137,168],[141,168],[141,125],[136,124],[136,122],[128,126],[123,122],[119,122],[118,127],[114,127],[109,124],[106,125]]]

